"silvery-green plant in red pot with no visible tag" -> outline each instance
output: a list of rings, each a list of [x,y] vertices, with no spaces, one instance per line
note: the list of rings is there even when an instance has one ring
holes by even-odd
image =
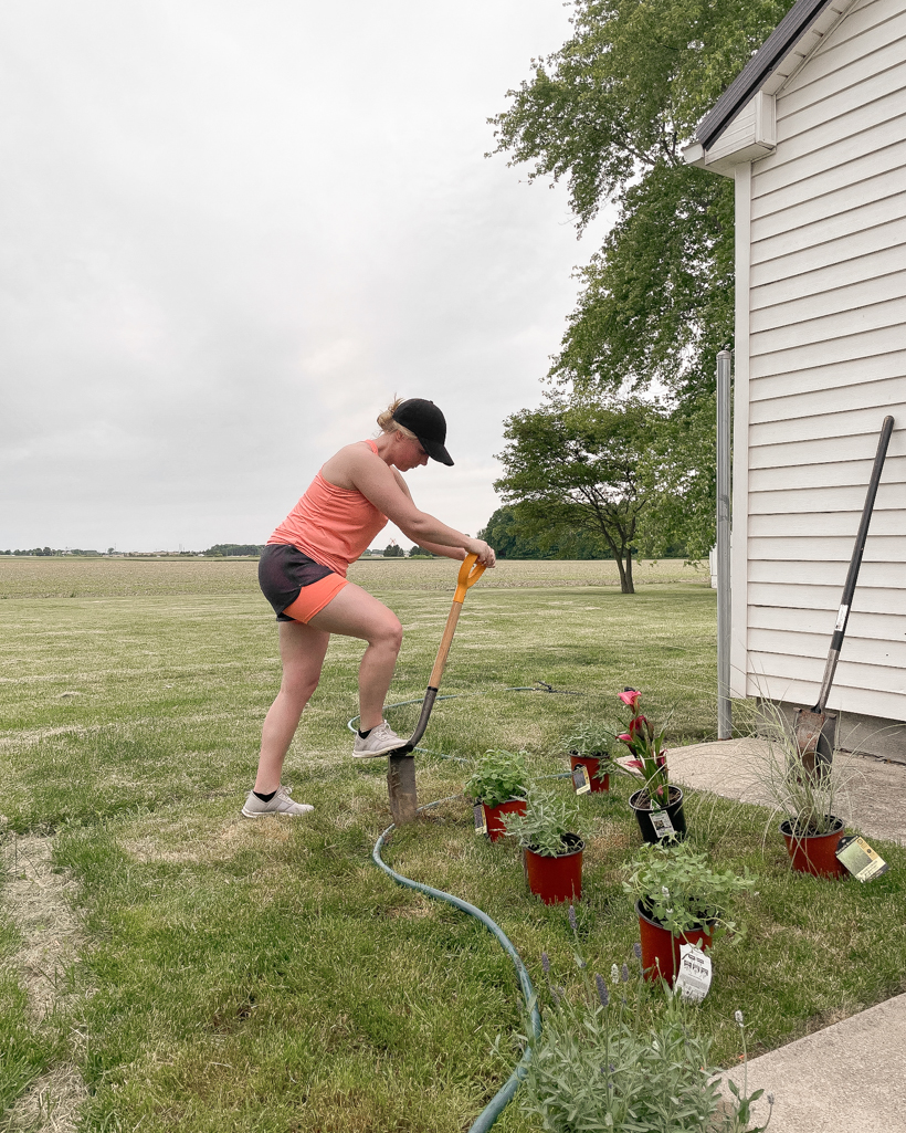
[[[518,838],[522,847],[529,889],[546,905],[582,896],[584,842],[575,833],[578,818],[574,799],[532,787],[525,813],[504,819],[507,837]]]

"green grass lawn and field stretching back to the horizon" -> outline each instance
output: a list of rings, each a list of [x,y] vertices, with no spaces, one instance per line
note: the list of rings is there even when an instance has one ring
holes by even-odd
[[[462,1131],[515,1060],[515,973],[476,921],[370,860],[390,817],[386,764],[349,758],[360,644],[332,642],[287,763],[284,781],[314,815],[239,817],[280,678],[255,566],[0,560],[0,1105],[75,1066],[87,1092],[70,1101],[91,1133]],[[407,631],[391,701],[420,697],[453,564],[362,562],[351,577]],[[564,730],[614,718],[625,685],[644,691],[650,714],[673,712],[674,744],[713,736],[707,577],[642,563],[636,581],[624,596],[609,563],[504,563],[470,590],[442,689],[460,696],[431,717],[421,801],[461,794],[468,772],[445,755],[525,749],[539,775],[563,770]],[[579,695],[506,691],[539,681]],[[401,733],[416,715],[388,712]],[[638,938],[619,887],[640,843],[631,790],[581,800],[579,935],[605,973]],[[717,1059],[737,1056],[737,1008],[766,1049],[906,987],[904,850],[879,844],[891,869],[867,886],[821,884],[789,871],[758,808],[700,795],[686,813],[696,846],[760,878],[747,931],[717,946],[696,1010]],[[385,858],[486,910],[536,982],[546,949],[573,983],[565,910],[529,897],[515,847],[477,840],[471,818],[464,799],[445,803],[395,834]],[[45,885],[69,886],[78,926],[77,961],[41,1010],[46,973],[23,962],[28,931],[10,896],[18,846],[50,853]],[[506,1059],[493,1051],[498,1033]],[[14,1125],[23,1113],[11,1110]],[[539,1126],[513,1105],[497,1127]]]

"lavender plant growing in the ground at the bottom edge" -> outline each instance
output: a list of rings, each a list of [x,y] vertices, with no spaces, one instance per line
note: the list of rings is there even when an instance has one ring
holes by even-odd
[[[763,1133],[764,1125],[750,1128],[760,1091],[747,1097],[745,1087],[715,1124],[719,1082],[694,1007],[647,987],[634,961],[614,964],[609,980],[592,980],[578,949],[575,961],[582,988],[571,994],[552,981],[541,956],[547,988],[536,1003],[544,1026],[537,1039],[522,1037],[532,1048],[523,1110],[550,1133]]]

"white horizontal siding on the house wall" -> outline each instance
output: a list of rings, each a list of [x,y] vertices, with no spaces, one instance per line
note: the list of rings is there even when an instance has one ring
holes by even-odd
[[[903,721],[906,0],[858,0],[777,92],[776,130],[776,152],[751,167],[747,202],[746,633],[734,657],[746,676],[735,687],[814,701],[891,414],[829,704]]]

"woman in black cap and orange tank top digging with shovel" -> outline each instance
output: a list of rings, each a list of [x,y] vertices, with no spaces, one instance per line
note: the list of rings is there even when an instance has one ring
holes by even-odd
[[[255,787],[242,813],[304,815],[280,776],[299,717],[320,679],[331,633],[368,642],[359,666],[359,732],[354,759],[371,759],[405,740],[384,719],[384,699],[402,644],[396,615],[348,581],[347,570],[393,522],[434,554],[463,560],[478,555],[494,565],[494,552],[439,519],[419,511],[400,475],[427,465],[452,465],[444,448],[446,421],[433,401],[394,401],[377,418],[376,441],[348,444],[324,465],[308,491],[277,527],[258,563],[258,580],[280,622],[283,680],[264,721]]]

